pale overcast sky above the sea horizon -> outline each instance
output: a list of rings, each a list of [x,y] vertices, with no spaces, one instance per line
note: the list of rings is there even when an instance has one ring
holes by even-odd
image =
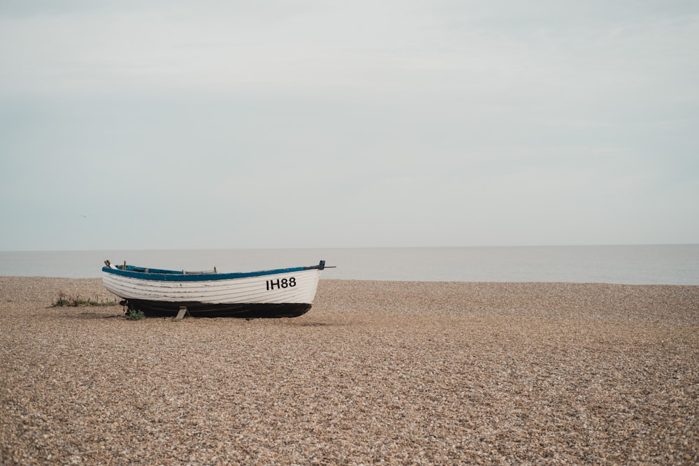
[[[699,2],[0,0],[0,250],[699,242]]]

